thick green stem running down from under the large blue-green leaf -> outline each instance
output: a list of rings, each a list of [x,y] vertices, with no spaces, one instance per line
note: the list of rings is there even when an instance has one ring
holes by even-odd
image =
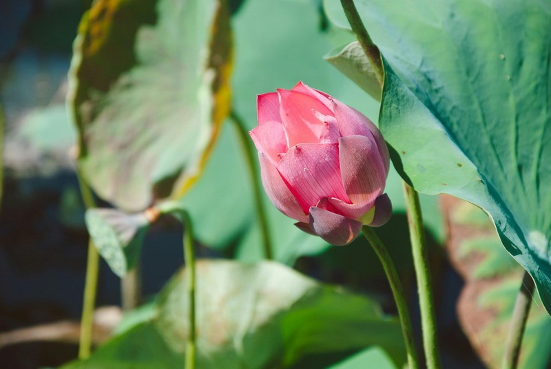
[[[408,212],[408,226],[415,265],[415,277],[417,277],[417,292],[419,293],[419,306],[421,309],[421,325],[423,330],[423,347],[425,350],[426,364],[429,369],[441,368],[438,343],[436,340],[436,315],[433,298],[432,279],[428,262],[428,248],[426,246],[423,217],[419,194],[406,182],[404,196]]]

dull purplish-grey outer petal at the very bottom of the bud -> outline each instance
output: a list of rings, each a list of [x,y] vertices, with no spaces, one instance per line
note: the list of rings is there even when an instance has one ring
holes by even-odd
[[[332,245],[343,246],[351,243],[360,234],[362,223],[312,206],[310,229]]]

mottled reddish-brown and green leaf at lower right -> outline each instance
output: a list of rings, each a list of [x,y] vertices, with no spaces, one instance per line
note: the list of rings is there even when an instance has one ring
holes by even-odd
[[[499,368],[504,355],[522,268],[499,247],[501,241],[488,217],[470,203],[446,197],[442,201],[448,225],[448,252],[465,279],[457,315],[471,345],[488,368]],[[551,317],[534,297],[523,335],[519,368],[548,368],[551,357]]]

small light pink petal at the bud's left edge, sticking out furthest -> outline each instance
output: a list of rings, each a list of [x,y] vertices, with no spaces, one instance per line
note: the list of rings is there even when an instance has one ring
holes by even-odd
[[[280,161],[278,154],[287,152],[287,137],[282,123],[266,121],[249,132],[256,150],[264,152],[272,163]]]

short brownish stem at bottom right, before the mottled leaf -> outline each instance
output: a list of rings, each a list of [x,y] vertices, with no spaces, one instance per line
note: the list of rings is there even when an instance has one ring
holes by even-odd
[[[519,365],[519,354],[521,352],[522,337],[526,321],[532,305],[532,294],[534,293],[534,281],[528,272],[524,272],[522,285],[517,295],[517,301],[514,302],[509,335],[507,337],[507,346],[503,356],[503,369],[515,369]]]

